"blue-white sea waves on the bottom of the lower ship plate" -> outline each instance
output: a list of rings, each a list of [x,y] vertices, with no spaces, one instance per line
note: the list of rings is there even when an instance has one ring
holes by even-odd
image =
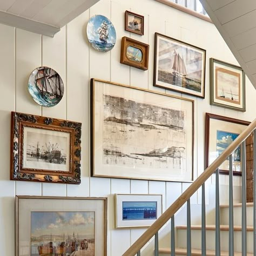
[[[37,86],[32,85],[30,83],[28,84],[28,89],[33,100],[35,100],[35,102],[41,106],[52,107],[58,104],[59,101],[62,99],[57,97],[51,99],[47,95],[40,93],[37,89]]]

